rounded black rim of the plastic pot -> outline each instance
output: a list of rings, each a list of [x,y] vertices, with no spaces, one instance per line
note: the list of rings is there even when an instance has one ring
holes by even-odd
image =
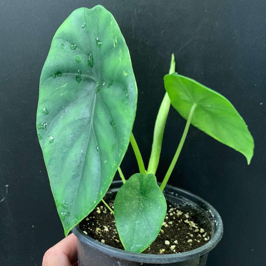
[[[122,181],[113,181],[112,185],[122,184]],[[159,184],[159,183],[158,183]],[[203,246],[196,248],[191,251],[186,251],[182,253],[175,254],[144,254],[144,253],[134,253],[130,251],[120,250],[118,248],[114,248],[103,244],[90,236],[86,235],[78,226],[75,226],[72,229],[72,232],[76,235],[76,237],[83,243],[88,246],[108,254],[113,257],[117,257],[120,259],[141,262],[141,263],[173,263],[179,261],[185,261],[189,259],[193,259],[199,256],[202,256],[212,250],[218,242],[221,240],[223,235],[223,223],[219,213],[215,210],[215,208],[210,205],[207,201],[203,200],[199,196],[191,193],[185,189],[177,188],[172,185],[166,185],[164,192],[174,192],[176,194],[181,194],[182,197],[187,198],[189,201],[200,202],[201,205],[206,206],[210,216],[212,217],[212,222],[214,223],[213,234],[211,239],[204,244]],[[191,198],[193,200],[191,200]]]

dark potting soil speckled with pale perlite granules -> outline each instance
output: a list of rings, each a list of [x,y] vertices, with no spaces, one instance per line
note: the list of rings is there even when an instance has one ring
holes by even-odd
[[[113,201],[109,202],[109,206],[113,209]],[[79,228],[93,239],[124,250],[116,230],[114,215],[103,202],[79,223]],[[191,211],[168,202],[166,217],[158,237],[142,253],[173,254],[190,251],[207,243],[210,237],[211,232],[204,225],[204,221],[199,224],[197,216]]]

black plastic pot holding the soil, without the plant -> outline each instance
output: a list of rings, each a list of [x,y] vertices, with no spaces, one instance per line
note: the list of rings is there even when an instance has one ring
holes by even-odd
[[[112,198],[121,187],[121,181],[114,181],[106,198]],[[107,246],[84,234],[79,227],[74,227],[72,232],[77,236],[77,251],[79,266],[137,266],[137,265],[178,265],[178,266],[204,266],[208,252],[212,250],[223,235],[223,223],[219,213],[208,202],[186,190],[167,185],[163,192],[171,203],[193,209],[198,214],[199,221],[207,223],[212,231],[210,241],[195,250],[169,254],[152,255],[133,253],[118,248]]]

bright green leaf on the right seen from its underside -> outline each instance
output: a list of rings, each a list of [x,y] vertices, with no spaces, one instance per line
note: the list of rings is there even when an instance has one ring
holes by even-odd
[[[243,118],[225,97],[177,73],[166,75],[164,83],[172,105],[183,118],[188,118],[195,104],[191,124],[241,152],[250,163],[254,149],[253,138]]]

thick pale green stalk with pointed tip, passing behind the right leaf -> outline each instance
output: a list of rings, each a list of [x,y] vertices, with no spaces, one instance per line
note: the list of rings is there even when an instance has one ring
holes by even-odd
[[[175,57],[174,54],[172,54],[169,74],[173,74],[174,72],[175,72]],[[160,105],[154,125],[152,152],[150,154],[150,160],[147,171],[149,174],[155,175],[158,168],[160,153],[162,148],[163,132],[165,129],[165,123],[169,113],[170,105],[171,105],[171,100],[168,96],[168,93],[166,92],[163,97],[162,103]]]

